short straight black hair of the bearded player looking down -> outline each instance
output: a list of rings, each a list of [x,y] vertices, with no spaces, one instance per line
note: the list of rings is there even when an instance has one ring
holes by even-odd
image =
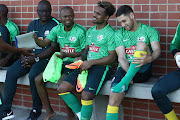
[[[128,5],[120,6],[116,12],[116,17],[119,17],[121,15],[129,15],[131,12],[134,13],[133,9]]]

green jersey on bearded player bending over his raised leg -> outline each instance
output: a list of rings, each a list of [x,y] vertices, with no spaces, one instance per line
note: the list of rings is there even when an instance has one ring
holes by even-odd
[[[121,27],[115,32],[115,43],[116,47],[124,46],[126,52],[126,58],[130,63],[132,61],[134,52],[136,50],[136,44],[138,42],[145,42],[150,51],[152,52],[151,42],[160,42],[159,32],[148,25],[139,23],[139,28],[135,32],[127,31]]]

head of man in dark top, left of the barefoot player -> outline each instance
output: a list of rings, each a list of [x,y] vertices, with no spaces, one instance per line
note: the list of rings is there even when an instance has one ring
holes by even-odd
[[[39,4],[37,9],[38,16],[42,22],[46,22],[51,17],[51,7],[48,4]]]

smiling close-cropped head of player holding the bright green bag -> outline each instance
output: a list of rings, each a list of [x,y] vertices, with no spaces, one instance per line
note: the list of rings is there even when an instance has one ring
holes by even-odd
[[[71,27],[74,24],[74,12],[71,9],[61,10],[60,18],[66,27]]]

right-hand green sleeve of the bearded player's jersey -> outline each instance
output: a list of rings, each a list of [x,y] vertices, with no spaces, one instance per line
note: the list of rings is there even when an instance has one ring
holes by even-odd
[[[150,42],[152,42],[152,41],[160,42],[159,32],[157,29],[151,27],[149,29],[149,33],[150,33],[150,35],[149,35]]]

